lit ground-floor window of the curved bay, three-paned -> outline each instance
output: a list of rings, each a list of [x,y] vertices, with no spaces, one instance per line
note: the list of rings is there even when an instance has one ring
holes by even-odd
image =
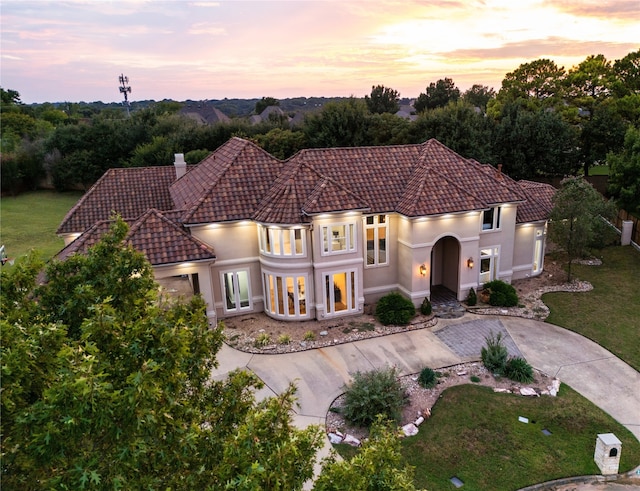
[[[306,276],[264,274],[265,308],[278,317],[307,317]]]

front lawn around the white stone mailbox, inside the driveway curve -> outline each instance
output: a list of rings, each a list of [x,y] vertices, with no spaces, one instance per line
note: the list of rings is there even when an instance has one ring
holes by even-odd
[[[519,416],[530,423],[518,421]],[[543,429],[551,431],[545,436]],[[620,472],[640,461],[640,442],[604,411],[566,385],[558,397],[496,394],[477,385],[451,387],[415,437],[402,440],[404,462],[415,467],[415,484],[451,490],[515,490],[561,477],[599,474],[593,461],[596,435],[622,441]],[[345,458],[357,450],[336,446]]]

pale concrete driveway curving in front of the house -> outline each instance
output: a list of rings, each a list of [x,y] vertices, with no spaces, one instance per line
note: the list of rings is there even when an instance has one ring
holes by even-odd
[[[640,440],[640,373],[574,332],[518,317],[465,314],[441,319],[434,328],[282,355],[243,353],[224,346],[215,378],[235,368],[252,370],[266,385],[258,397],[275,395],[295,382],[297,420],[323,423],[352,373],[395,365],[402,375],[423,367],[443,368],[480,358],[488,331],[503,329],[510,353],[555,376],[627,427]],[[511,344],[512,343],[512,344]],[[475,354],[474,354],[475,352]]]

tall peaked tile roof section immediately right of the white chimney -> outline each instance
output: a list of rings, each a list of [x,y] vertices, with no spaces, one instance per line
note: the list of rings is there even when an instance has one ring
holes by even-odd
[[[176,208],[186,210],[185,224],[249,219],[282,166],[257,145],[234,137],[178,179],[171,197]]]

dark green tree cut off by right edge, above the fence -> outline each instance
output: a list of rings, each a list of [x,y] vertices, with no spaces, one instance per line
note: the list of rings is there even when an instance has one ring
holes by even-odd
[[[621,152],[607,155],[609,193],[617,204],[631,213],[640,213],[640,129],[629,127]]]

